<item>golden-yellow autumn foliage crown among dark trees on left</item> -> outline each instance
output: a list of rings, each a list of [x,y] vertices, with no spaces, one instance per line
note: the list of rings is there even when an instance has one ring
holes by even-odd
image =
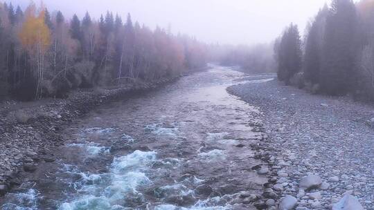
[[[44,22],[44,13],[45,10],[42,10],[35,15],[35,10],[30,9],[19,32],[22,46],[30,53],[44,53],[51,44],[51,32]]]

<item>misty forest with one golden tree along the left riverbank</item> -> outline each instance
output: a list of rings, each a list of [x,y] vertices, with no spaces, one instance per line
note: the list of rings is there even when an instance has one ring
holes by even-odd
[[[62,97],[73,88],[153,81],[206,65],[206,46],[107,12],[71,19],[0,3],[0,95]]]

